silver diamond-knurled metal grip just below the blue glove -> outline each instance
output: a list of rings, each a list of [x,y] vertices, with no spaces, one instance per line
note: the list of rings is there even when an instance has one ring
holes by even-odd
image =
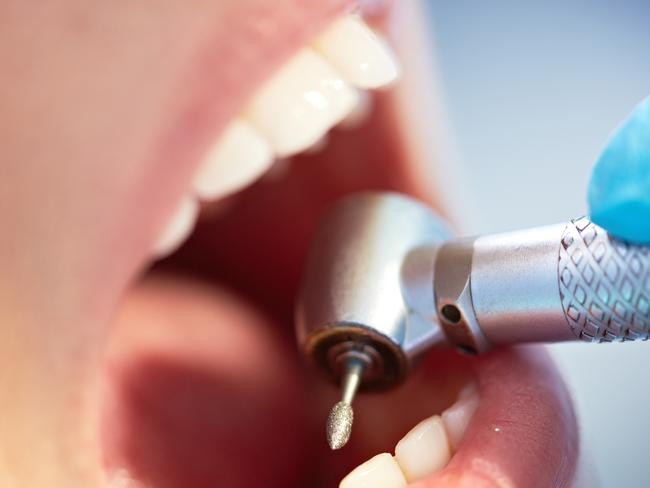
[[[611,238],[583,217],[565,228],[558,281],[573,333],[588,342],[650,337],[650,247]]]

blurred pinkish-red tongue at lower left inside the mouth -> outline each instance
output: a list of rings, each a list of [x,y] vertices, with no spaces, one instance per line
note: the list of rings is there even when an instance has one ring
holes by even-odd
[[[303,402],[274,328],[200,281],[155,274],[132,290],[107,357],[109,478],[152,488],[299,486]]]

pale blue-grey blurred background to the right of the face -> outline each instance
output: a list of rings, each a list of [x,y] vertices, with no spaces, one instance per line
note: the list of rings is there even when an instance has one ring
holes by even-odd
[[[650,95],[650,1],[427,2],[469,233],[586,213],[608,135]],[[650,486],[650,344],[557,345],[603,487]]]

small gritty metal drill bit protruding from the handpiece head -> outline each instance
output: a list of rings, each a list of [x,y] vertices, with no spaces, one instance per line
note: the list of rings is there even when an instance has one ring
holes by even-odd
[[[363,363],[359,360],[348,361],[343,378],[343,395],[335,404],[327,418],[327,442],[332,450],[341,449],[350,438],[354,412],[352,401],[361,383]]]

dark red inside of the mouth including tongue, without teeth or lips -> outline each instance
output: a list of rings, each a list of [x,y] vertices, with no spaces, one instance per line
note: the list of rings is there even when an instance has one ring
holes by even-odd
[[[335,130],[284,177],[207,208],[188,243],[134,284],[106,359],[102,432],[115,483],[332,486],[453,403],[469,373],[455,355],[436,355],[424,369],[444,375],[360,395],[352,440],[332,454],[323,424],[339,392],[294,346],[295,291],[323,210],[361,190],[435,205],[422,166],[408,160],[394,103],[378,96],[363,126]]]

